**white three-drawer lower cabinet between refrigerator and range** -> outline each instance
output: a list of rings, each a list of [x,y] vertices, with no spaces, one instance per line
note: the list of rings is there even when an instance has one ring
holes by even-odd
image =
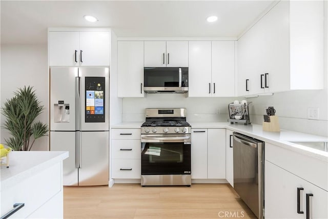
[[[141,178],[140,129],[112,129],[111,177]]]

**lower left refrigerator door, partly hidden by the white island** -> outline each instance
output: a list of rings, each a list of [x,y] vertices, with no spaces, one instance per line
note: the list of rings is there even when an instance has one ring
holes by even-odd
[[[63,185],[77,186],[77,168],[75,167],[75,131],[51,131],[50,150],[68,151],[69,157],[63,161]]]

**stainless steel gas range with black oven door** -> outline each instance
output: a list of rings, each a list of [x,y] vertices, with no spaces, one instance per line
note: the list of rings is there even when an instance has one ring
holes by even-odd
[[[141,186],[191,185],[191,126],[185,108],[146,109]]]

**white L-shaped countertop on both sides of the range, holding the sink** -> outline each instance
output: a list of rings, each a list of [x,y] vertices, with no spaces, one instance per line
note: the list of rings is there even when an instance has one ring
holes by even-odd
[[[224,128],[231,131],[239,132],[250,137],[257,138],[263,142],[271,143],[289,150],[293,150],[305,155],[313,156],[319,160],[328,163],[328,152],[317,150],[311,147],[306,147],[291,142],[328,142],[328,137],[295,132],[281,129],[280,132],[263,131],[261,125],[251,124],[230,124],[230,123],[200,123],[189,122],[193,129],[211,129]],[[112,128],[140,128],[142,122],[125,122],[113,125]]]

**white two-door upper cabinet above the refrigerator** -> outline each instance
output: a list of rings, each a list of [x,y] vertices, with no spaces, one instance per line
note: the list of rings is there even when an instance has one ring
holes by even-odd
[[[109,31],[49,31],[50,66],[109,66]]]

